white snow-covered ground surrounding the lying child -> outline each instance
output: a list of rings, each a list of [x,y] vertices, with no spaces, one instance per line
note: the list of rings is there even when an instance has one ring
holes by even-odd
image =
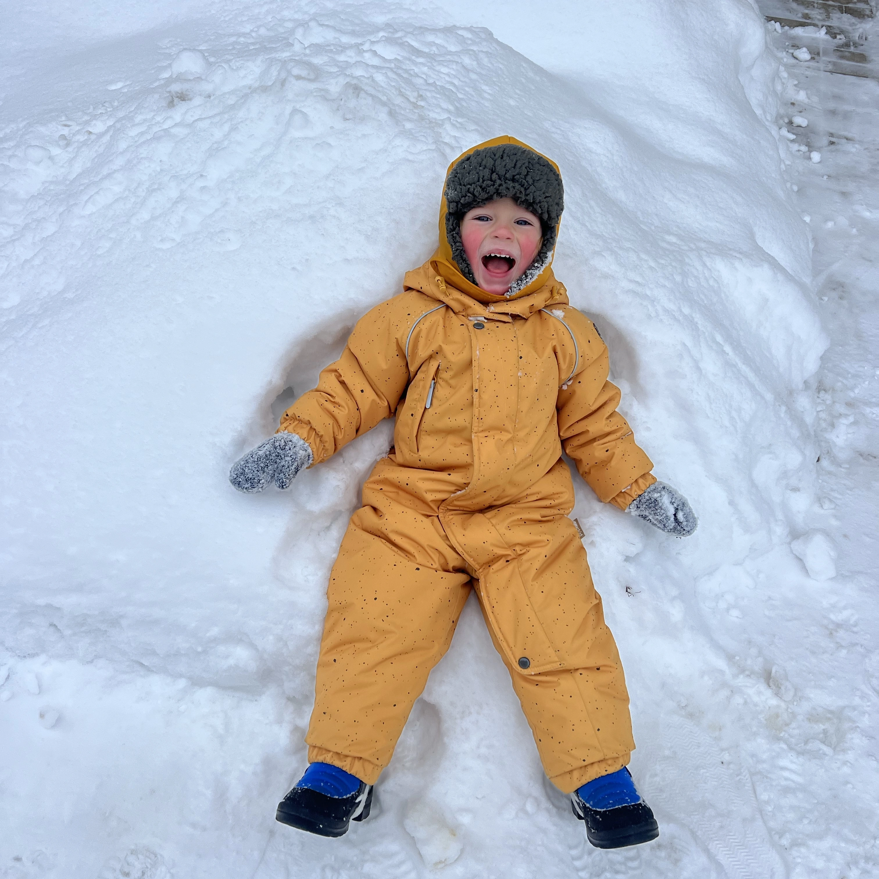
[[[841,98],[767,33],[745,0],[4,11],[0,876],[879,872],[875,117],[792,152],[784,120]],[[472,602],[374,817],[273,819],[391,425],[285,493],[229,464],[430,255],[448,161],[496,134],[561,166],[556,273],[701,517],[674,541],[578,486],[661,825],[622,852],[544,780]]]

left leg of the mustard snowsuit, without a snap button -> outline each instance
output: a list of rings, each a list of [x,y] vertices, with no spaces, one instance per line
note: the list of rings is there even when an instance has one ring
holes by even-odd
[[[412,496],[400,503],[381,469],[385,461],[364,486],[333,566],[306,737],[309,762],[367,784],[388,765],[470,593],[435,509]]]

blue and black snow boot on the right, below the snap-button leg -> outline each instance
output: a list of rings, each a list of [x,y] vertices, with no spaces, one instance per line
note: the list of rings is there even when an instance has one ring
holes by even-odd
[[[585,821],[586,839],[596,848],[637,846],[659,835],[653,811],[625,766],[577,788],[570,795],[570,804],[574,814]]]

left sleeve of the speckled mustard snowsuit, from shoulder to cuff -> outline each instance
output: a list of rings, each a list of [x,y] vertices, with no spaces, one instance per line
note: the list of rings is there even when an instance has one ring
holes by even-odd
[[[314,453],[313,464],[395,412],[410,379],[397,323],[389,302],[367,312],[342,356],[323,369],[317,387],[281,416],[278,432],[304,439]]]

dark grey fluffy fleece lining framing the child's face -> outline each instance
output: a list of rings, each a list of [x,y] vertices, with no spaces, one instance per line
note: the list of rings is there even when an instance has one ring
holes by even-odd
[[[476,284],[476,278],[461,242],[461,218],[470,209],[495,199],[512,199],[541,218],[541,249],[506,292],[512,296],[527,287],[552,259],[556,225],[564,210],[562,178],[543,156],[515,143],[477,149],[454,166],[446,181],[446,236],[452,258],[471,284]]]

